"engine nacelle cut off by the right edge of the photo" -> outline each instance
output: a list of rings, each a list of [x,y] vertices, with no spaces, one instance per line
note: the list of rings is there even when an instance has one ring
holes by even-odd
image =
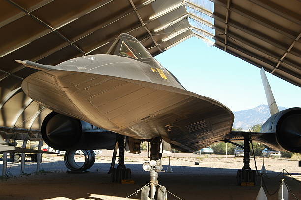
[[[289,108],[272,115],[261,127],[262,133],[276,133],[285,150],[301,152],[301,108]]]

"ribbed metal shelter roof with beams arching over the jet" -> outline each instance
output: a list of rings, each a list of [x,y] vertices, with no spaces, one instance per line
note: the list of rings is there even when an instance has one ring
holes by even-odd
[[[2,0],[0,7],[0,130],[39,129],[50,112],[23,93],[22,80],[36,70],[15,59],[56,65],[104,54],[120,33],[153,56],[192,36],[215,41],[301,86],[300,0]]]

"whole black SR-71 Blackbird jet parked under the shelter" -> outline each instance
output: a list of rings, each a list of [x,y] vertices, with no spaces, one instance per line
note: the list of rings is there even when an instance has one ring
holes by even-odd
[[[67,150],[65,162],[73,170],[78,169],[70,159],[75,150],[87,150],[93,160],[91,149],[114,149],[109,172],[113,181],[130,178],[124,148],[140,153],[141,141],[151,144],[151,163],[144,165],[151,173],[162,170],[164,151],[191,153],[218,141],[244,140],[249,150],[249,140],[256,140],[272,149],[301,152],[301,108],[274,112],[261,133],[233,132],[234,115],[226,106],[187,91],[128,34],[121,34],[103,55],[77,57],[56,66],[16,61],[40,70],[22,82],[22,89],[53,110],[42,123],[42,136],[49,146]],[[151,199],[154,193],[151,187]]]

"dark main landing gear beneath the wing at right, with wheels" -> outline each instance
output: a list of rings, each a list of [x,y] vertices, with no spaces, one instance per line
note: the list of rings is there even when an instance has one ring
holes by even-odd
[[[236,174],[237,184],[241,186],[256,185],[256,170],[250,168],[250,142],[251,134],[243,135],[243,167]],[[253,152],[254,153],[254,152]]]

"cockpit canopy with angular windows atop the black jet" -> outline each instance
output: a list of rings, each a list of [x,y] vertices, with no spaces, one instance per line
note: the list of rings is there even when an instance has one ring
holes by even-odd
[[[150,59],[153,58],[149,51],[133,36],[120,34],[107,54],[130,57],[133,59]]]

